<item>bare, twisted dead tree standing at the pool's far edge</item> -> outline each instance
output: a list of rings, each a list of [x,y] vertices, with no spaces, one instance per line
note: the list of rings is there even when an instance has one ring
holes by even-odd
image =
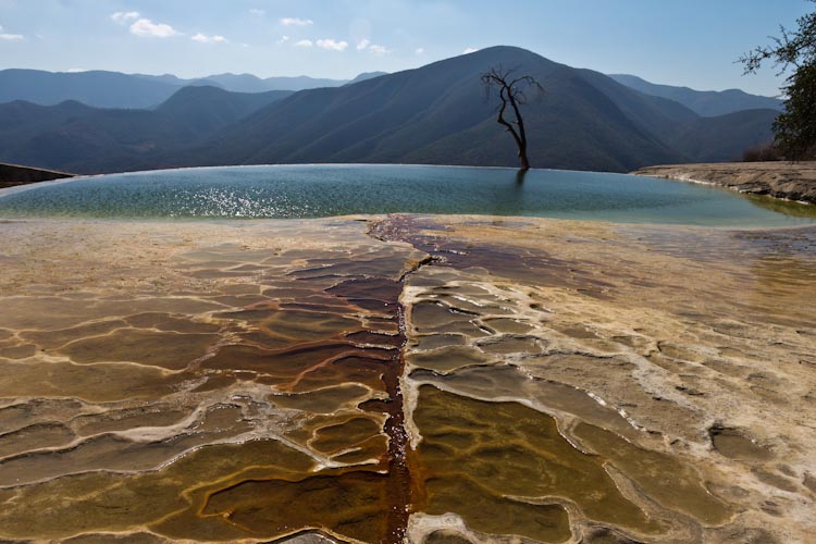
[[[529,170],[530,160],[527,158],[527,132],[524,131],[524,120],[521,119],[519,107],[527,103],[528,99],[524,95],[527,89],[533,88],[537,92],[543,92],[544,87],[530,75],[514,77],[514,70],[503,70],[500,65],[497,69],[491,67],[490,72],[482,74],[482,85],[484,86],[486,98],[490,98],[495,89],[498,89],[498,98],[502,100],[502,104],[498,107],[496,122],[503,125],[510,133],[512,139],[516,140],[516,146],[519,148],[521,170]],[[516,116],[515,121],[507,121],[505,119],[507,104],[510,104],[512,109],[512,114]]]

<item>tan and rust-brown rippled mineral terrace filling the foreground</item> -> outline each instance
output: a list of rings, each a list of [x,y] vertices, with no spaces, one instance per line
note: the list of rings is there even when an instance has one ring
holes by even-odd
[[[0,226],[0,539],[816,532],[816,228]]]

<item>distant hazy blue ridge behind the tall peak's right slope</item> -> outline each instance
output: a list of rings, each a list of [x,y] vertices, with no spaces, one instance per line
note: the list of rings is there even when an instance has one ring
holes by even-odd
[[[609,74],[609,77],[640,92],[680,102],[703,116],[725,115],[742,110],[782,111],[782,101],[778,98],[749,95],[739,89],[694,90],[689,87],[657,85],[629,74]]]

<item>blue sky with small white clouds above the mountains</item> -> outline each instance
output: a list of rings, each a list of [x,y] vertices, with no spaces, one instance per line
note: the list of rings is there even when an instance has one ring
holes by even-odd
[[[804,0],[0,0],[0,67],[348,78],[514,45],[572,66],[777,95],[734,60]]]

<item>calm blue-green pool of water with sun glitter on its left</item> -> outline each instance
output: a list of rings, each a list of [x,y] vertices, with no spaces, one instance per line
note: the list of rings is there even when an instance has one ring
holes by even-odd
[[[0,217],[320,218],[353,213],[536,215],[784,226],[816,207],[625,174],[421,165],[224,166],[110,174],[0,191]]]

